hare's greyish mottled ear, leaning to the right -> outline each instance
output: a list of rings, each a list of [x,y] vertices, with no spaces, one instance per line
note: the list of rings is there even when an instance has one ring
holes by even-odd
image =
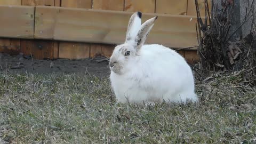
[[[154,22],[156,21],[157,16],[145,21],[138,32],[138,35],[135,38],[135,44],[137,45],[137,51],[140,50],[141,46],[145,43],[146,38],[149,34],[149,31],[153,28]]]

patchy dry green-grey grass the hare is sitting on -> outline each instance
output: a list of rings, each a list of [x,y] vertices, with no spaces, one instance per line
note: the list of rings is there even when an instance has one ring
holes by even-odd
[[[256,89],[227,75],[199,103],[117,103],[108,79],[0,74],[0,143],[256,143]]]

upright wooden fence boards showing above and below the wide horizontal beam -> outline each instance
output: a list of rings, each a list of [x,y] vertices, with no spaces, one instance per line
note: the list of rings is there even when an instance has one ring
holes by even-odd
[[[198,0],[201,9],[204,0]],[[114,4],[113,4],[114,3]],[[95,10],[113,10],[174,15],[196,15],[194,0],[1,0],[0,5],[61,6]],[[36,18],[35,18],[36,19]],[[36,59],[84,59],[97,55],[110,57],[115,45],[99,43],[63,42],[41,39],[1,38],[0,52],[22,52]],[[197,52],[179,51],[190,63],[198,60]]]

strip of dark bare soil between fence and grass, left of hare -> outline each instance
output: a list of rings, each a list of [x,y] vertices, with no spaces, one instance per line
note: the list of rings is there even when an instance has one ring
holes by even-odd
[[[105,57],[84,60],[35,60],[23,57],[23,54],[11,56],[0,53],[0,71],[10,73],[82,73],[93,74],[98,77],[108,77],[110,70]]]

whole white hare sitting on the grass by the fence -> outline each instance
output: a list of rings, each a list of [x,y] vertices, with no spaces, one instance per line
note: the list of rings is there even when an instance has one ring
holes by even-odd
[[[193,73],[185,59],[162,45],[143,45],[156,19],[141,25],[141,12],[134,13],[125,43],[111,55],[110,81],[117,101],[196,102]]]

